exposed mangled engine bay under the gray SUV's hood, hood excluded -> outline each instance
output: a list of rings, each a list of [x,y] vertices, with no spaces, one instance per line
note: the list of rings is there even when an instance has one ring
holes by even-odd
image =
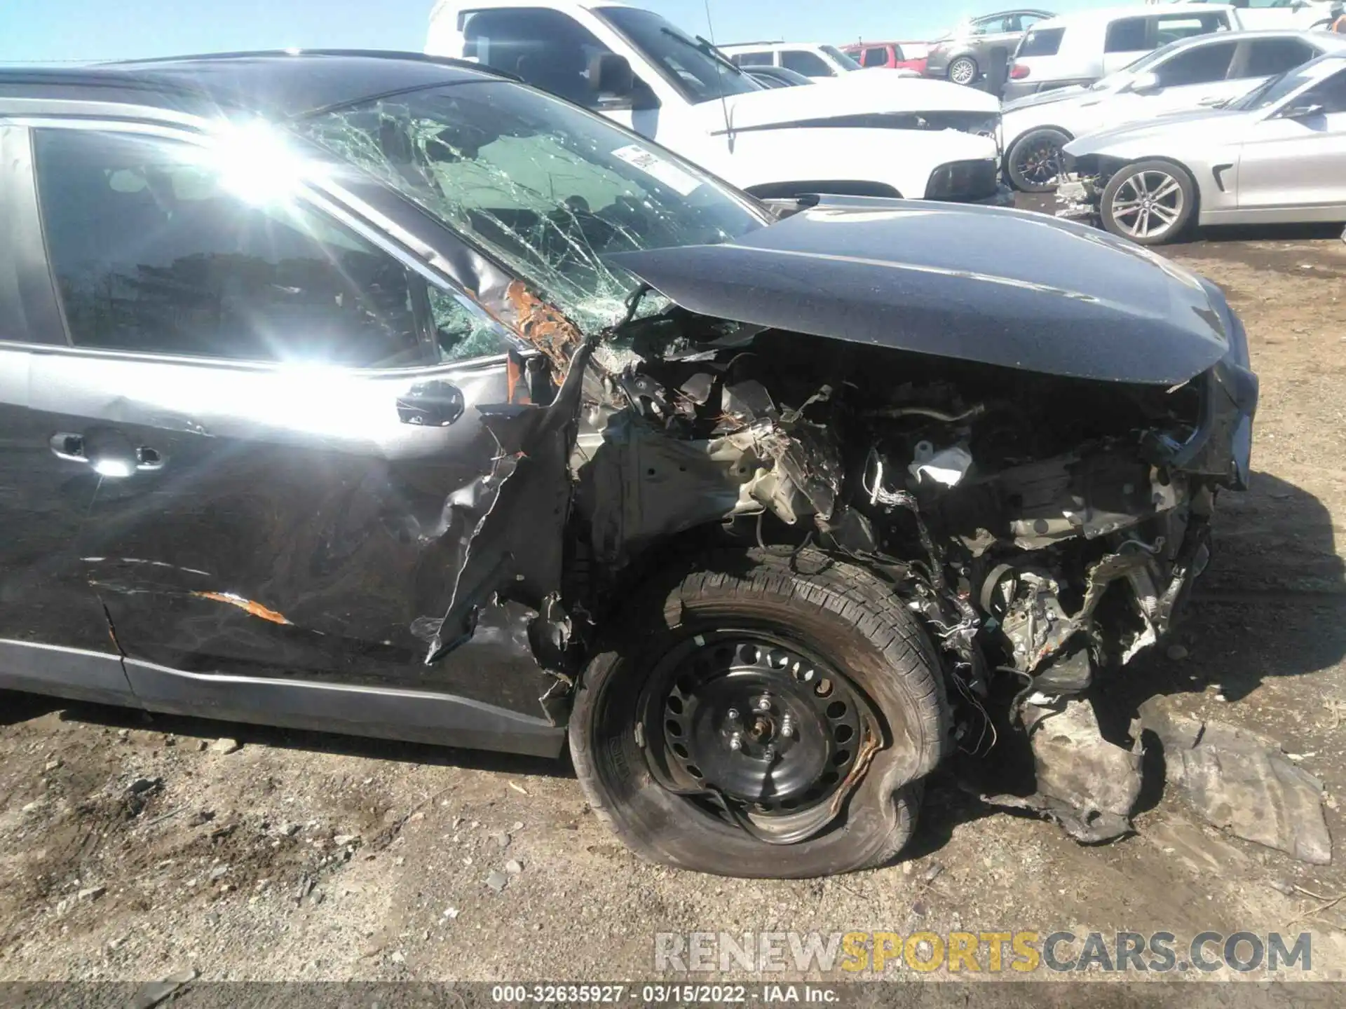
[[[580,393],[572,523],[588,562],[560,599],[603,612],[680,535],[821,548],[921,616],[956,743],[983,755],[995,678],[1015,683],[1008,717],[1027,729],[1168,631],[1207,558],[1215,480],[1166,461],[1201,409],[1197,382],[1065,379],[681,309],[629,322]],[[1139,759],[1092,732],[1135,775],[1120,786],[1133,800]],[[1106,796],[1031,807],[1082,841],[1129,829],[1129,802]]]

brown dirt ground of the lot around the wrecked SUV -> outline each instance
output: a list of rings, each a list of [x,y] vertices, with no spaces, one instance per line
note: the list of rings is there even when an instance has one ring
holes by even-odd
[[[1312,977],[1346,978],[1346,901],[1319,909],[1346,895],[1346,245],[1167,254],[1248,327],[1256,474],[1221,500],[1186,657],[1109,690],[1281,740],[1326,784],[1333,865],[1221,835],[1159,787],[1136,835],[1082,848],[940,775],[898,865],[715,879],[629,854],[564,763],[0,694],[0,979],[641,979],[662,931],[921,928],[1311,930]]]

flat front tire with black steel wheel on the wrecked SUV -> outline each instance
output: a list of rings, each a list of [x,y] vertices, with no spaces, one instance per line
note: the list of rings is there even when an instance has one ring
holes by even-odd
[[[949,712],[934,646],[888,584],[817,550],[717,552],[610,627],[571,755],[642,857],[800,879],[882,865],[911,838]]]

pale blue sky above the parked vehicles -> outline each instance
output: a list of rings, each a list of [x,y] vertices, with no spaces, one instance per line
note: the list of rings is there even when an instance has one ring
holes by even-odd
[[[1117,1],[1044,0],[1044,5],[1062,12]],[[704,0],[635,3],[707,34]],[[432,0],[0,0],[0,63],[287,46],[420,50],[431,5]],[[719,42],[843,43],[859,35],[933,38],[961,16],[1012,5],[997,0],[711,0],[711,16]]]

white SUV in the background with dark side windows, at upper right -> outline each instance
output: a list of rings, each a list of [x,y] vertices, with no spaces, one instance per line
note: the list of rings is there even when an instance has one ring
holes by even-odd
[[[1092,85],[1170,42],[1240,28],[1228,4],[1164,4],[1081,11],[1038,22],[1019,40],[1004,100]]]

